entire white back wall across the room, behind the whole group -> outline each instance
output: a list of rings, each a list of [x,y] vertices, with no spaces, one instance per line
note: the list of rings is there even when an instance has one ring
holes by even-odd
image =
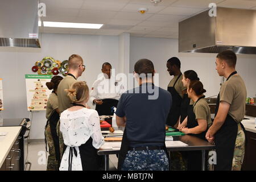
[[[0,47],[0,78],[3,78],[5,106],[5,110],[1,112],[2,118],[29,117],[26,109],[24,75],[34,74],[31,71],[32,65],[45,56],[63,61],[73,53],[81,55],[86,71],[79,80],[88,82],[89,87],[101,72],[101,65],[105,61],[109,61],[118,73],[118,39],[118,36],[42,34],[40,49]],[[172,56],[180,58],[182,72],[194,69],[199,74],[207,89],[207,96],[218,93],[221,77],[214,69],[216,54],[178,53],[175,39],[130,38],[130,73],[133,72],[137,60],[150,59],[154,62],[156,72],[159,73],[159,85],[164,89],[167,89],[168,82],[171,80],[171,76],[167,73],[166,61]],[[255,55],[238,55],[237,70],[245,80],[250,97],[254,97],[256,93],[255,68]],[[34,113],[31,139],[44,138],[45,124],[45,111]]]

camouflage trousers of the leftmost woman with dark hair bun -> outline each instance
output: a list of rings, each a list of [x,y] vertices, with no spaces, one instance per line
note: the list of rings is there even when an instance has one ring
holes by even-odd
[[[46,140],[48,143],[49,147],[49,156],[47,160],[47,171],[57,171],[58,170],[58,161],[56,160],[56,155],[55,155],[55,147],[53,144],[53,139],[52,139],[52,134],[51,134],[51,129],[50,125],[48,124],[46,127],[46,130],[44,131],[46,134]]]

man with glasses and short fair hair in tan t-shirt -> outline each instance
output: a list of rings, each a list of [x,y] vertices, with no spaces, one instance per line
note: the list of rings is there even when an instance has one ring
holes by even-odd
[[[72,101],[68,97],[68,93],[65,91],[65,89],[69,89],[71,85],[76,82],[77,78],[82,75],[82,72],[85,71],[85,65],[83,65],[83,63],[84,61],[79,55],[71,55],[68,59],[68,75],[63,80],[61,80],[57,89],[60,114],[72,106]],[[60,122],[57,124],[57,133],[59,134],[60,154],[62,157],[64,151],[64,143],[62,134],[60,133],[59,129]]]

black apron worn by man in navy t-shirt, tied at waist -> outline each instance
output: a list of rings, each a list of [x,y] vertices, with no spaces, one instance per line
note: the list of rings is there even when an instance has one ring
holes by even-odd
[[[137,143],[154,143],[154,142],[139,142],[136,141]],[[166,155],[168,158],[168,163],[169,163],[169,169],[170,169],[170,158],[167,152],[167,148],[166,148],[166,143],[163,142],[164,145],[164,151],[166,151]],[[123,131],[123,138],[122,138],[122,143],[121,143],[121,148],[120,148],[120,152],[118,155],[118,166],[117,166],[117,170],[121,171],[123,163],[125,162],[125,158],[127,155],[127,152],[129,151],[129,147],[130,147],[130,141],[127,138],[127,133],[126,133],[126,127],[125,130]]]

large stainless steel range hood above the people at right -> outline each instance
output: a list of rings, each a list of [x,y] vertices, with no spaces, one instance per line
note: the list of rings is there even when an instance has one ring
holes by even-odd
[[[256,54],[256,10],[217,7],[179,22],[179,52]]]

